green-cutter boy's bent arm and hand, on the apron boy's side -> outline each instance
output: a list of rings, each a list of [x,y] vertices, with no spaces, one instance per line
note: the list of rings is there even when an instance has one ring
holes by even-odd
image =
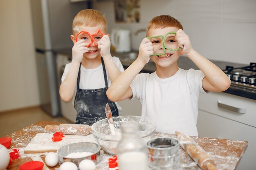
[[[132,97],[132,89],[130,84],[136,75],[149,61],[149,56],[153,55],[152,43],[145,38],[139,46],[138,58],[112,82],[110,88],[107,90],[108,98],[113,102],[118,102],[129,97]]]

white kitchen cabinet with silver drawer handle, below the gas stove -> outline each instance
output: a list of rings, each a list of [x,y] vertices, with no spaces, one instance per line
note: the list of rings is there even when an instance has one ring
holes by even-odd
[[[255,170],[255,120],[256,100],[227,93],[203,94],[198,100],[199,136],[248,141],[247,152],[237,170]]]

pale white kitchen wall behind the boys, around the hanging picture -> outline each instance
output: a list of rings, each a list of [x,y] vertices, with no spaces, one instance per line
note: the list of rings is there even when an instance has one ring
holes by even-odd
[[[193,48],[204,57],[249,64],[256,62],[256,0],[140,0],[140,23],[116,23],[113,1],[94,2],[112,28],[132,31],[132,49],[138,50],[145,33],[135,37],[157,15],[171,15],[181,22]]]

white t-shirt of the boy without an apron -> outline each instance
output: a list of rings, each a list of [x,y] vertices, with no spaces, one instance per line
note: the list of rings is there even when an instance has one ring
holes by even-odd
[[[200,70],[179,68],[172,77],[161,79],[154,73],[137,75],[130,85],[132,99],[139,99],[141,116],[153,118],[157,132],[175,134],[175,131],[198,136],[198,97],[204,74]]]

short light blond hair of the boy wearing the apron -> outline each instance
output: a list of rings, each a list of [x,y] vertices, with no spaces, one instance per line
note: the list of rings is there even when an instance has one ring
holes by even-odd
[[[108,24],[105,17],[101,14],[100,11],[94,9],[84,9],[76,14],[73,23],[72,31],[73,35],[77,33],[77,26],[97,26],[102,24],[104,30],[101,30],[105,33],[108,31]]]

